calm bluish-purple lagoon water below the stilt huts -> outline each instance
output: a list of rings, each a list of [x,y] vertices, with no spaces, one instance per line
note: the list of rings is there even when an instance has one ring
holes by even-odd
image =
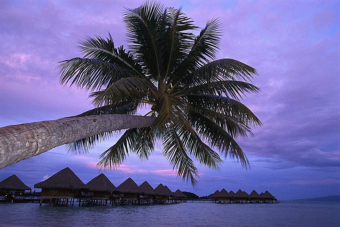
[[[340,203],[0,204],[0,226],[340,226]]]

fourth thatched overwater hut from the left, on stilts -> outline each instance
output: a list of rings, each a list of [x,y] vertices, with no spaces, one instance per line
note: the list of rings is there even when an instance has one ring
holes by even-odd
[[[135,204],[139,199],[140,189],[130,177],[117,187],[117,191],[122,194],[122,203]]]

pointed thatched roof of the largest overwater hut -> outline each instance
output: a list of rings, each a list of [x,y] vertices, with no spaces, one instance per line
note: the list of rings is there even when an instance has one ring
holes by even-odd
[[[67,188],[67,189],[83,189],[87,188],[83,181],[75,175],[70,168],[57,172],[43,182],[34,185],[34,188]]]

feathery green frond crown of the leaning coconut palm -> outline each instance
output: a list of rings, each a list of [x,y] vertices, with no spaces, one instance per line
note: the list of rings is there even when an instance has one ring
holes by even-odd
[[[237,138],[252,135],[261,126],[253,112],[240,102],[246,92],[258,92],[251,84],[252,67],[234,59],[215,59],[221,23],[212,19],[199,28],[180,10],[146,2],[124,14],[129,51],[116,48],[112,36],[95,36],[80,42],[83,58],[61,62],[62,84],[91,91],[96,108],[79,116],[136,114],[151,107],[156,117],[151,127],[126,130],[101,155],[98,168],[117,168],[128,152],[148,159],[157,141],[177,176],[194,186],[199,177],[192,157],[201,165],[219,170],[230,156],[243,167],[249,162]],[[113,135],[103,133],[69,144],[72,151],[87,152]],[[213,150],[214,149],[214,150]]]

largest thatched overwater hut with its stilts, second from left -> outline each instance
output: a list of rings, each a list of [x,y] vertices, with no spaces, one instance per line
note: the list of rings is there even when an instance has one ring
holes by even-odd
[[[78,198],[80,206],[80,199],[83,198],[82,192],[87,190],[83,181],[68,167],[35,184],[34,188],[41,188],[40,205],[43,198],[50,198],[50,202],[54,198],[56,204],[60,204],[61,199],[64,199],[64,205],[68,204],[68,199],[71,199],[71,201],[73,199],[73,205],[74,199]]]

